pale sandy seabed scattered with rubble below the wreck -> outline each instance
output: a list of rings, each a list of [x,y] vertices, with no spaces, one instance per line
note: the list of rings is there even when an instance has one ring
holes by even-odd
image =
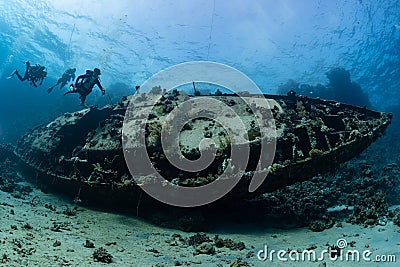
[[[0,191],[0,265],[400,266],[400,227],[391,222],[371,228],[343,223],[323,232],[308,228],[283,230],[268,224],[217,223],[205,235],[211,240],[218,235],[243,242],[245,248],[213,246],[213,254],[201,254],[187,242],[196,233],[161,228],[126,214],[75,207],[71,200],[38,189],[22,196]],[[330,260],[328,253],[324,259],[302,260],[302,251],[314,250],[320,257],[339,239],[347,242],[341,250],[343,260]],[[265,257],[259,253],[265,246],[268,258],[261,261],[257,254]],[[100,247],[112,255],[111,263],[95,260],[93,254]],[[276,252],[270,254],[272,250]],[[279,260],[279,250],[297,250],[299,261],[291,260],[288,253],[281,254],[287,261]],[[348,250],[357,250],[360,260],[346,261]],[[366,252],[370,262],[362,258],[366,250],[371,251]],[[290,255],[296,257],[294,252]],[[379,256],[386,262],[377,262]]]

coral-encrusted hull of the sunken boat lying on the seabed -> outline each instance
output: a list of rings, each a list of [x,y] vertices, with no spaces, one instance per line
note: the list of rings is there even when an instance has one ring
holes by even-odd
[[[182,173],[171,167],[163,155],[159,145],[161,126],[174,107],[194,97],[183,92],[169,92],[152,109],[151,115],[144,117],[142,111],[148,107],[151,97],[151,93],[137,94],[129,99],[134,101],[133,110],[130,110],[132,120],[147,123],[146,147],[138,149],[147,151],[155,168],[164,177],[182,186],[198,186],[216,179],[224,171],[230,156],[230,139],[223,127],[200,118],[182,129],[180,143],[185,157],[195,159],[198,156],[198,141],[204,136],[218,137],[215,143],[219,149],[215,162],[207,168],[209,173],[200,172],[198,176]],[[252,122],[254,114],[236,95],[208,97],[229,104],[246,127],[251,149],[250,163],[229,195],[233,198],[247,197],[262,142]],[[253,194],[270,192],[336,168],[367,148],[384,133],[391,121],[390,114],[335,101],[297,96],[265,97],[269,99],[275,119],[276,153],[267,179]],[[14,153],[39,172],[38,179],[44,179],[43,182],[61,191],[71,194],[79,191],[103,199],[107,196],[107,201],[127,197],[137,200],[140,189],[126,166],[122,149],[126,138],[122,136],[122,127],[127,105],[128,99],[125,98],[114,106],[67,113],[27,133]]]

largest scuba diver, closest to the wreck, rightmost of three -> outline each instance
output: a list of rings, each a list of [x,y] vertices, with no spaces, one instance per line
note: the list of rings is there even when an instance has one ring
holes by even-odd
[[[78,93],[79,99],[81,100],[81,105],[86,107],[85,100],[86,97],[92,92],[92,89],[97,85],[102,95],[106,93],[103,86],[100,84],[99,76],[101,75],[100,69],[95,68],[94,70],[86,70],[85,74],[82,74],[76,78],[75,85],[71,84],[69,86],[69,91],[64,95]]]

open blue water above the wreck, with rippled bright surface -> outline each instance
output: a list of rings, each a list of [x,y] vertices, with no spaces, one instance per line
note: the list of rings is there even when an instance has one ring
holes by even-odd
[[[0,10],[1,143],[79,109],[67,88],[46,93],[70,67],[102,70],[107,95],[87,99],[100,106],[187,61],[228,64],[265,93],[288,79],[326,84],[343,67],[374,109],[400,110],[398,0],[0,0]],[[6,79],[27,60],[47,68],[38,88]]]

